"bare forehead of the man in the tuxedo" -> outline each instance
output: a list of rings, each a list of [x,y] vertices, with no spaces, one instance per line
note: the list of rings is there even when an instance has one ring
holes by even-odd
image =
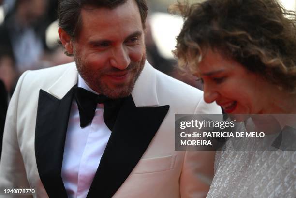
[[[134,0],[114,9],[86,7],[81,10],[81,31],[87,40],[120,40],[143,31],[142,20]]]

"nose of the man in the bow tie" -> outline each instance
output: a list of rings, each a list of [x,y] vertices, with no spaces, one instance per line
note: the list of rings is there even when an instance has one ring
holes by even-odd
[[[124,46],[118,46],[113,49],[113,54],[110,59],[110,64],[112,67],[116,67],[117,69],[124,70],[131,63],[131,59],[129,57],[128,51],[124,48]]]

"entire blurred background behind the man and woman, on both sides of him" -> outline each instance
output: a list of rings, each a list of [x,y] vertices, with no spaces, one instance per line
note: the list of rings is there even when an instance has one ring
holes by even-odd
[[[180,16],[167,12],[176,1],[148,0],[147,59],[156,69],[202,89],[195,77],[178,71],[172,54],[183,24]],[[295,10],[296,0],[281,2]],[[58,0],[0,0],[0,80],[9,95],[24,71],[73,61],[57,43],[57,3]]]

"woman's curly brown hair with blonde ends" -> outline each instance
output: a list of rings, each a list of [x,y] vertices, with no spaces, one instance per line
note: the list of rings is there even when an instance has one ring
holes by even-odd
[[[296,13],[277,0],[207,0],[170,7],[185,23],[174,51],[179,66],[198,70],[217,50],[279,88],[296,92]]]

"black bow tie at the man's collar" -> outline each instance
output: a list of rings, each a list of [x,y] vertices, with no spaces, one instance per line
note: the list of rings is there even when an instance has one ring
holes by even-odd
[[[79,110],[81,127],[86,127],[89,125],[94,117],[97,104],[103,103],[104,122],[112,131],[124,98],[111,99],[105,95],[97,95],[80,87],[74,87],[74,97]]]

